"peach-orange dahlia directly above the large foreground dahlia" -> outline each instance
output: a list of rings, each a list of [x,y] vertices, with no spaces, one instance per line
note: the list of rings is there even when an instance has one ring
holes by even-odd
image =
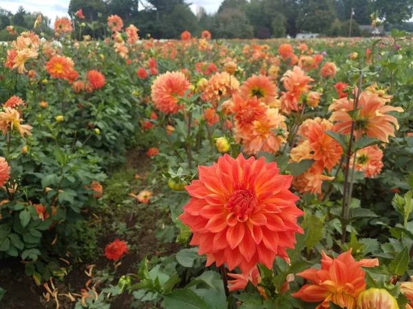
[[[285,120],[277,108],[268,108],[264,117],[253,122],[251,132],[242,136],[244,152],[248,155],[256,155],[260,151],[275,154],[287,141]]]

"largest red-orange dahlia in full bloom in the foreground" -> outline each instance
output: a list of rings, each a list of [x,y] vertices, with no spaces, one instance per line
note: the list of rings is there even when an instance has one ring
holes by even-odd
[[[242,155],[224,155],[198,170],[179,218],[193,232],[191,245],[207,254],[207,266],[226,263],[249,273],[257,263],[273,268],[277,255],[288,260],[286,248],[303,233],[297,217],[304,214],[289,190],[292,176],[279,174],[276,163]]]

